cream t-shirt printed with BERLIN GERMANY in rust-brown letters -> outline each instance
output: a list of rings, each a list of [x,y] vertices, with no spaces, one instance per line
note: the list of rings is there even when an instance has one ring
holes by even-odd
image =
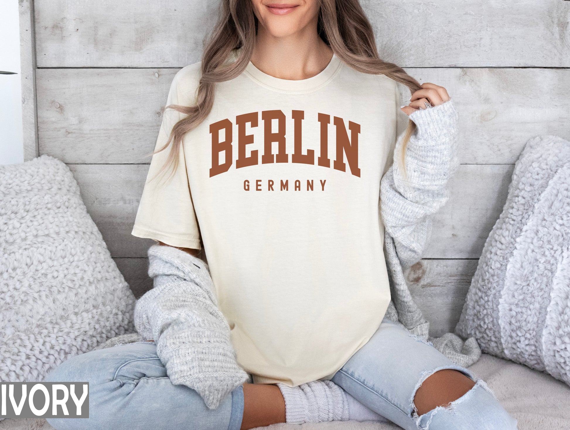
[[[181,69],[167,104],[194,105],[199,79],[200,63]],[[166,110],[155,150],[181,117]],[[380,325],[390,301],[380,179],[406,121],[396,81],[336,55],[303,80],[250,62],[217,84],[174,179],[146,183],[132,235],[198,249],[202,239],[254,382],[331,378]]]

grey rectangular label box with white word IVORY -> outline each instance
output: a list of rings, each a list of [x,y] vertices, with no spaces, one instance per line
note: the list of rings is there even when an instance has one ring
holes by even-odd
[[[88,382],[0,382],[0,418],[88,417]]]

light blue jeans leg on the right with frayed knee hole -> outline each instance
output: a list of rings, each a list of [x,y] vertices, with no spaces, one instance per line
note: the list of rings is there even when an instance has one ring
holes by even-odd
[[[442,369],[455,369],[475,386],[446,406],[418,416],[413,403],[422,382]],[[400,323],[384,318],[372,338],[333,376],[332,381],[374,412],[406,430],[515,430],[483,380]]]

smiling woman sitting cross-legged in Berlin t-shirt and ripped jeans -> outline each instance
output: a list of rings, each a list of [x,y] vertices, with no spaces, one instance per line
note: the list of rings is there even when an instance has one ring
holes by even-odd
[[[396,83],[412,93],[401,108]],[[384,235],[402,264],[419,259],[457,117],[445,88],[378,58],[357,0],[222,1],[168,105],[132,234],[192,256],[203,243],[255,383],[210,409],[172,383],[155,342],[91,351],[48,378],[89,380],[91,418],[52,425],[516,428],[482,381],[385,317]],[[168,168],[166,184],[149,185]]]

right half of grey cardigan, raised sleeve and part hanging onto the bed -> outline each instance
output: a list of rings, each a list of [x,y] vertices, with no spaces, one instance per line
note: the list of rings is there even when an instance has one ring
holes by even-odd
[[[405,155],[405,173],[397,161],[403,136],[394,149],[394,163],[380,182],[380,212],[385,227],[384,253],[392,301],[386,317],[400,321],[411,333],[431,341],[460,366],[481,357],[475,338],[463,342],[453,333],[429,337],[429,323],[410,294],[404,271],[417,263],[431,233],[431,215],[449,199],[447,181],[459,165],[457,119],[453,99],[432,108],[416,110],[409,118],[416,124]]]

